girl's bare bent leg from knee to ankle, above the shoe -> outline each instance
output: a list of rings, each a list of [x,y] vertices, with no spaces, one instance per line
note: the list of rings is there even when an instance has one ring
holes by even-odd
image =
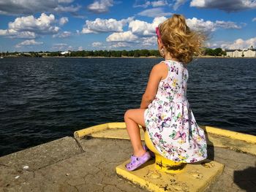
[[[137,157],[146,153],[146,150],[144,150],[141,143],[140,128],[138,126],[138,124],[140,124],[140,126],[143,126],[143,130],[146,130],[144,122],[144,112],[145,109],[134,109],[127,110],[127,112],[125,112],[124,114],[124,121],[127,125],[127,132],[132,142],[133,155]]]

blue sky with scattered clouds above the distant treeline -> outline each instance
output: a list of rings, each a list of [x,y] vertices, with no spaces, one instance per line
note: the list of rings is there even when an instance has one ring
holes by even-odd
[[[0,0],[0,51],[157,49],[173,14],[208,34],[206,47],[256,47],[255,0]]]

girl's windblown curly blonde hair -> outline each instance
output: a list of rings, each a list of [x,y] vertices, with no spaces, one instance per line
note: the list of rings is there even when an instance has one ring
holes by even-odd
[[[183,15],[174,14],[159,25],[159,35],[165,50],[172,58],[184,64],[192,61],[193,55],[200,55],[206,35],[192,31]]]

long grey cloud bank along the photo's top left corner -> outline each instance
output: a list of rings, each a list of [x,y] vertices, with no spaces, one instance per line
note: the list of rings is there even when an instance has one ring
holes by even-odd
[[[72,3],[73,0],[0,0],[0,14],[34,15],[38,12],[76,12],[80,6],[63,7],[61,4]]]

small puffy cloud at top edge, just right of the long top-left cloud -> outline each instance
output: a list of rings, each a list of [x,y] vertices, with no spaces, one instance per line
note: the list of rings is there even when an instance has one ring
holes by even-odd
[[[91,12],[102,13],[108,12],[109,7],[113,7],[113,0],[94,1],[93,4],[89,4],[87,9],[89,9]]]

